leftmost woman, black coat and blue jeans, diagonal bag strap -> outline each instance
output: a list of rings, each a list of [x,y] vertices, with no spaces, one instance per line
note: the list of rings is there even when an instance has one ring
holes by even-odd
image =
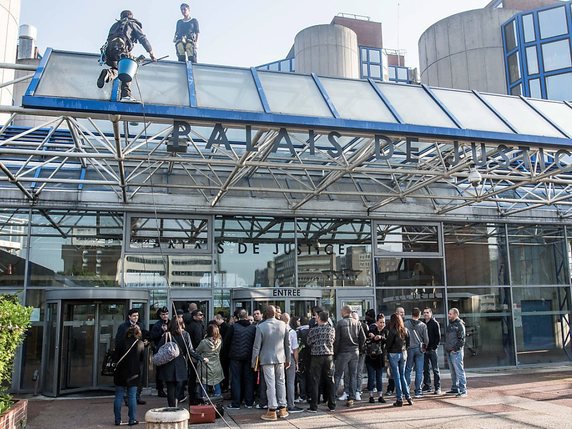
[[[137,385],[141,376],[141,359],[145,345],[141,341],[141,328],[132,325],[125,332],[124,338],[117,340],[115,348],[115,358],[117,366],[113,374],[115,384],[115,400],[113,402],[113,412],[115,415],[115,426],[121,425],[121,404],[125,390],[127,390],[127,408],[129,409],[129,426],[138,424],[137,415]]]

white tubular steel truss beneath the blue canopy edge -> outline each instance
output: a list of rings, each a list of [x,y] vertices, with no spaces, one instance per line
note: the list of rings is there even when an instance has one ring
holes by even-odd
[[[307,131],[288,130],[286,145],[279,127],[255,126],[247,147],[244,126],[223,124],[228,142],[213,144],[216,124],[200,123],[191,124],[186,152],[172,152],[173,123],[167,119],[60,112],[33,128],[18,128],[9,124],[22,115],[57,113],[10,110],[0,128],[0,186],[17,188],[30,203],[57,199],[54,192],[107,191],[123,205],[164,193],[209,208],[228,198],[246,205],[252,198],[271,198],[293,212],[319,200],[358,203],[367,215],[414,203],[436,216],[467,207],[504,217],[531,210],[572,216],[572,157],[560,147],[430,137],[412,143],[406,136],[388,136],[389,153],[374,135],[356,133],[338,138],[336,152],[328,144],[330,130],[317,133],[312,145]],[[469,177],[472,169],[478,182]]]

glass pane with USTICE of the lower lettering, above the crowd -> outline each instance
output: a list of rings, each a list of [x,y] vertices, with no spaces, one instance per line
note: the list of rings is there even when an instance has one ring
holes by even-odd
[[[297,220],[300,287],[372,286],[367,220]]]

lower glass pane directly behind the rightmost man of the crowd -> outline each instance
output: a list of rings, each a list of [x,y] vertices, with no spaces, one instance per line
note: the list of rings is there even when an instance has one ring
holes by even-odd
[[[449,288],[447,297],[465,322],[465,366],[514,365],[510,289]]]

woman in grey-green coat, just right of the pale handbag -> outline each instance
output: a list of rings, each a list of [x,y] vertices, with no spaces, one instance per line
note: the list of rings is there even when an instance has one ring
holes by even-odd
[[[213,386],[214,395],[222,395],[220,383],[224,380],[224,372],[220,363],[220,348],[222,346],[222,338],[219,333],[217,325],[210,324],[207,326],[207,336],[199,343],[197,353],[203,358],[207,358],[209,364],[201,365],[201,393],[200,396],[204,398],[205,390],[209,386]]]

